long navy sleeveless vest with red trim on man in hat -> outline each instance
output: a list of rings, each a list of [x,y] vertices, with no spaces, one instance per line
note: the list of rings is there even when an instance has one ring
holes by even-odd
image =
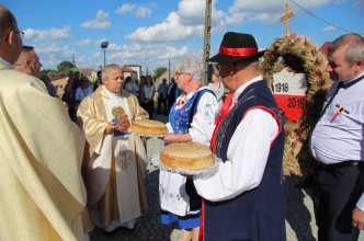
[[[246,112],[252,107],[272,113],[278,122],[281,133],[271,145],[264,174],[258,187],[229,200],[205,200],[205,241],[286,240],[282,183],[284,130],[278,107],[265,80],[247,87],[239,95],[238,103],[223,119],[217,129],[215,154],[227,161],[230,139]]]

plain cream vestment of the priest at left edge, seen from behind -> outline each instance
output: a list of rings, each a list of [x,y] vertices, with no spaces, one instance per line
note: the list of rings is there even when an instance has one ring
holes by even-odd
[[[0,240],[82,240],[84,137],[44,83],[0,59]]]

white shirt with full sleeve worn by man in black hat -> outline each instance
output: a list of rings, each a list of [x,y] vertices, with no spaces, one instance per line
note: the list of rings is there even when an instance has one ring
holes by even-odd
[[[232,105],[249,84],[261,79],[257,77],[241,85],[234,95]],[[259,186],[271,142],[277,134],[278,125],[269,112],[259,108],[249,111],[230,139],[228,160],[219,164],[217,173],[194,177],[197,193],[208,200],[219,202]]]

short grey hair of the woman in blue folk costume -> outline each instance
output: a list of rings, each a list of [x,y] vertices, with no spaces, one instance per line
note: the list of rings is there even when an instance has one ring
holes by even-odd
[[[196,82],[202,81],[204,67],[202,65],[202,58],[195,55],[186,56],[181,58],[175,64],[175,71],[191,73],[193,76],[193,80]]]

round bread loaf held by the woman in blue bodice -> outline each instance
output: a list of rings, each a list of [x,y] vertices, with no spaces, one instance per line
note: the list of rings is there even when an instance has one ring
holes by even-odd
[[[152,119],[137,119],[132,124],[132,131],[141,135],[163,136],[168,133],[164,123]]]

